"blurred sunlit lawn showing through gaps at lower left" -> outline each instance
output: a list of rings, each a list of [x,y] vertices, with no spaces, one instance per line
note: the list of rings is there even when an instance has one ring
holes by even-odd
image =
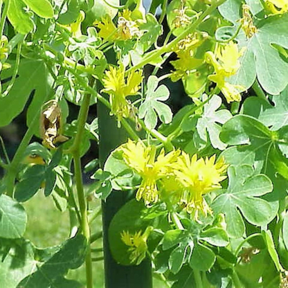
[[[93,208],[100,206],[98,199],[89,203]],[[54,205],[52,197],[44,197],[39,191],[35,197],[24,204],[28,214],[28,224],[24,237],[28,238],[35,246],[44,248],[58,245],[69,237],[69,211],[60,212]],[[95,233],[102,230],[101,216],[92,224],[91,231]],[[93,243],[93,248],[102,247],[102,239]],[[102,253],[93,253],[93,257],[100,257]],[[86,283],[84,265],[79,269],[70,270],[67,278],[78,280],[83,285]],[[93,287],[104,287],[103,261],[93,262]],[[154,288],[165,287],[163,282],[154,279]],[[136,287],[135,287],[136,288]]]

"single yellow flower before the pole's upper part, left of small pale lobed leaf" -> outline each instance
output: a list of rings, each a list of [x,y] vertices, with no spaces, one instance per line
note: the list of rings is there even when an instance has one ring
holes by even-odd
[[[110,66],[109,71],[105,71],[102,81],[105,87],[102,91],[110,96],[111,114],[116,115],[118,121],[129,117],[130,108],[126,97],[136,95],[138,92],[142,81],[141,71],[129,73],[125,80],[125,71],[122,66],[119,68]]]

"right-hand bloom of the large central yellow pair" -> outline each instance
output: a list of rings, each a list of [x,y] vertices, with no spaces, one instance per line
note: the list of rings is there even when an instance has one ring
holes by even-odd
[[[210,208],[203,195],[221,188],[220,182],[226,179],[223,174],[227,165],[222,159],[215,163],[215,155],[204,160],[197,159],[195,154],[190,159],[189,154],[182,152],[175,168],[174,174],[184,188],[179,204],[183,205],[188,213],[193,213],[196,220],[199,212],[206,216],[210,213]]]

